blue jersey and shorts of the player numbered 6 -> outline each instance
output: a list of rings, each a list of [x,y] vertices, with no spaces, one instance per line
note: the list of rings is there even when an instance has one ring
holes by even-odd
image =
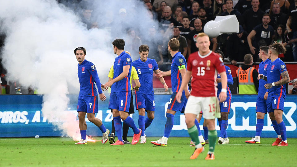
[[[125,78],[112,84],[108,106],[109,109],[117,109],[119,111],[129,112],[131,98],[131,61],[131,56],[124,51],[114,60],[113,79],[123,73],[124,66],[130,66],[130,69],[128,75]]]

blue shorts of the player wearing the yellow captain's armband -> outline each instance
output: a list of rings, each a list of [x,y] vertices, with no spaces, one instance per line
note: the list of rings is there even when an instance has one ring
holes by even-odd
[[[180,111],[181,113],[183,113],[185,111],[185,107],[188,101],[186,94],[185,92],[183,92],[182,97],[180,99],[180,101],[182,101],[181,103],[176,101],[175,95],[176,95],[176,92],[173,92],[169,99],[169,104],[167,109],[170,109],[172,111]]]

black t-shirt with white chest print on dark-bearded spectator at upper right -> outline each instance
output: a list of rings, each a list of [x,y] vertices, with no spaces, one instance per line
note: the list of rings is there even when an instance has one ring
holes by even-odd
[[[263,27],[263,24],[259,24],[253,30],[256,31],[256,35],[253,41],[253,46],[256,49],[259,49],[258,43],[266,46],[271,44],[272,36],[274,35],[274,29],[271,25],[268,25],[268,28],[266,29]],[[263,43],[263,40],[266,44]]]

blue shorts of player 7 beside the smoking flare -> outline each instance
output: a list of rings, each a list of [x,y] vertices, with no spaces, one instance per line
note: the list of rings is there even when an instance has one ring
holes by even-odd
[[[98,113],[98,96],[78,96],[77,112]]]

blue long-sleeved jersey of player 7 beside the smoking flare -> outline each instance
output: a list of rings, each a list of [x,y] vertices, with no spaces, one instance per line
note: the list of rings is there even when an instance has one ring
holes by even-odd
[[[97,89],[94,80],[99,79],[95,65],[92,62],[84,60],[78,64],[78,79],[80,80],[79,96],[97,96]],[[98,83],[101,85],[101,83]],[[102,93],[101,89],[100,92]],[[100,93],[99,92],[99,93]]]

